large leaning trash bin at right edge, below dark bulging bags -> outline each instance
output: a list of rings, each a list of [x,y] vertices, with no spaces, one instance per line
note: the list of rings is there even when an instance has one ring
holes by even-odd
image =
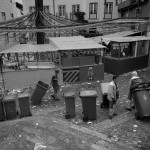
[[[135,89],[132,92],[137,113],[136,119],[150,118],[150,94],[148,89]]]

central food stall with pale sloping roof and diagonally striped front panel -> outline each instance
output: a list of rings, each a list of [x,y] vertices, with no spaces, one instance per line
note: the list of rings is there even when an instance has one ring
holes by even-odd
[[[63,70],[63,82],[103,80],[103,45],[82,36],[53,37],[50,44],[59,49],[59,61]]]

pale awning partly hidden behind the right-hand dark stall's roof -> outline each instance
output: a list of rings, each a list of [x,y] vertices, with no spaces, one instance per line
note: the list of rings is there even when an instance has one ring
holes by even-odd
[[[126,36],[130,36],[130,35],[134,35],[134,34],[137,34],[139,32],[134,32],[134,31],[122,31],[122,32],[116,32],[114,34],[109,34],[109,35],[105,35],[105,36],[97,36],[97,37],[93,37],[93,38],[89,38],[90,40],[96,42],[96,43],[101,43],[102,42],[102,39],[105,39],[108,37],[111,37],[111,38],[116,38],[116,37],[126,37]],[[104,41],[104,40],[103,40]],[[108,44],[110,42],[110,40],[106,40],[104,41],[106,44]]]

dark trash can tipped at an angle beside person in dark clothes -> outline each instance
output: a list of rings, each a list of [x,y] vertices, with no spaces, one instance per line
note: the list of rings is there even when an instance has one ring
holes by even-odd
[[[32,105],[40,105],[41,104],[42,98],[45,95],[48,87],[49,87],[48,84],[46,84],[42,81],[38,81],[38,83],[36,84],[36,88],[30,98]]]

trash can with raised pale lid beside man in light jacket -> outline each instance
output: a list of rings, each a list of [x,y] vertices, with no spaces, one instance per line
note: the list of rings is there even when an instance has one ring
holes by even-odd
[[[101,108],[109,108],[109,100],[107,99],[109,83],[101,83],[102,102]]]

